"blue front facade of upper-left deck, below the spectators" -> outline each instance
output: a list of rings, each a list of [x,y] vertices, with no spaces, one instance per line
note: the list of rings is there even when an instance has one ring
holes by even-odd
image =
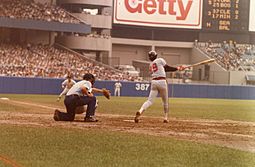
[[[85,23],[72,24],[60,22],[48,22],[42,20],[23,20],[0,17],[0,27],[33,29],[43,31],[76,32],[88,34],[91,32],[91,26]]]

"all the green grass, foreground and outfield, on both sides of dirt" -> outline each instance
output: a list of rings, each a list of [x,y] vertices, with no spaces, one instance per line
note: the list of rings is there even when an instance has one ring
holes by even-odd
[[[11,100],[51,107],[64,107],[52,95],[7,95]],[[98,97],[98,113],[134,115],[146,98]],[[171,117],[255,122],[254,100],[169,99]],[[157,99],[145,113],[162,116]],[[49,113],[0,101],[0,114]],[[248,151],[177,140],[171,137],[112,132],[105,129],[33,127],[0,124],[0,155],[20,166],[170,166],[170,167],[253,167],[255,154]],[[254,139],[255,140],[255,139]],[[0,159],[0,166],[8,166]]]

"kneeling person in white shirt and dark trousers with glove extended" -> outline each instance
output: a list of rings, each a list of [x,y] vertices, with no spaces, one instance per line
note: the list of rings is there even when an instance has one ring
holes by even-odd
[[[102,93],[107,99],[110,99],[110,91],[105,88],[95,88],[93,87],[94,83],[94,75],[90,73],[85,74],[83,80],[77,82],[65,96],[64,104],[67,112],[60,112],[56,109],[53,119],[55,121],[73,121],[76,108],[87,105],[84,121],[97,122],[98,120],[95,118],[96,97],[93,93]]]

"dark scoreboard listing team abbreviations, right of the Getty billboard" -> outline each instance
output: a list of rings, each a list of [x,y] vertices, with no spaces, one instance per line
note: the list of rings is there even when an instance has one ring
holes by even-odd
[[[221,32],[247,32],[249,0],[205,0],[202,29]]]

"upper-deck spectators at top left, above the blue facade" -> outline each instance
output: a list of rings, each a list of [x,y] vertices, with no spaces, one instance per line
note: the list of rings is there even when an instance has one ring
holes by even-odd
[[[1,0],[0,17],[34,19],[79,24],[80,21],[66,10],[51,4],[35,3],[33,0]]]

